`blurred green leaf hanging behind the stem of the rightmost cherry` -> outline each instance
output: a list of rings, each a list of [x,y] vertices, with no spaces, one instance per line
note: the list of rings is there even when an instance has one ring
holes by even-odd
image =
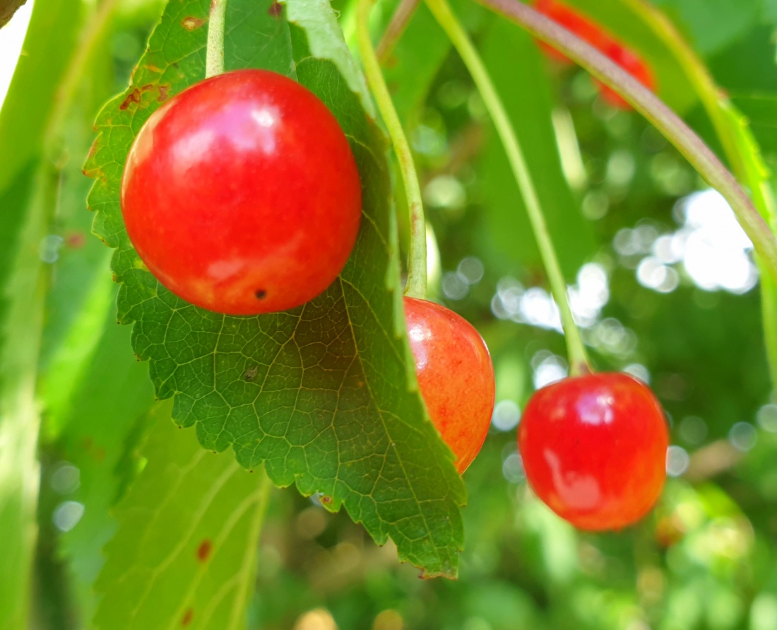
[[[554,100],[545,66],[531,37],[506,20],[493,22],[483,37],[482,48],[483,61],[524,150],[559,262],[571,281],[595,247],[591,226],[584,220],[562,170],[551,118]],[[506,64],[505,59],[516,62]],[[516,266],[529,271],[542,269],[526,208],[493,128],[483,150],[480,177],[488,219],[482,235],[483,251],[490,251],[492,264],[503,272],[514,271]]]

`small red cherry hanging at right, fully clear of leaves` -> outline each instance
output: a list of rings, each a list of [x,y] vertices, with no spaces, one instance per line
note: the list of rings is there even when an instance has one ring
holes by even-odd
[[[581,530],[620,530],[650,511],[664,487],[668,439],[650,388],[624,373],[543,387],[518,425],[529,485]]]

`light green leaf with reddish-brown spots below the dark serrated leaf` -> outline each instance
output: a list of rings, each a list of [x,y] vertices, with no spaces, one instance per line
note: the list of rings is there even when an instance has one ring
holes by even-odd
[[[263,472],[200,448],[159,404],[143,472],[116,511],[97,590],[97,628],[245,627],[257,538],[270,492]]]

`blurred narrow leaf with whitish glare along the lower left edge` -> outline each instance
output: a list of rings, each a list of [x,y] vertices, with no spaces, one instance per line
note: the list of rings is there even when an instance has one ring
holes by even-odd
[[[9,301],[0,321],[0,628],[26,627],[30,564],[37,537],[35,512],[40,467],[40,414],[35,401],[47,274],[38,243],[47,233],[56,179],[42,166],[19,250],[5,286]]]

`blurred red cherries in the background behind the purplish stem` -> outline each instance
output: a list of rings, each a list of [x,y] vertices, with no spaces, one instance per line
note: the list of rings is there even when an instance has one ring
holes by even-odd
[[[656,82],[655,79],[653,79],[653,73],[650,72],[650,66],[639,57],[639,54],[637,54],[636,51],[621,44],[598,23],[593,22],[579,12],[570,9],[570,7],[563,4],[563,2],[557,2],[557,0],[536,0],[535,9],[566,28],[566,30],[574,33],[577,37],[580,37],[580,39],[587,41],[588,44],[591,44],[591,46],[602,54],[605,54],[611,61],[615,61],[615,63],[626,72],[629,72],[634,79],[642,83],[647,89],[655,89]],[[557,51],[556,48],[549,46],[549,44],[545,44],[544,42],[539,42],[539,45],[549,58],[564,65],[572,64],[572,60]],[[614,89],[605,86],[605,84],[598,79],[595,79],[594,82],[598,86],[601,97],[605,102],[620,109],[631,109],[629,103],[626,103],[623,97],[615,92]]]

